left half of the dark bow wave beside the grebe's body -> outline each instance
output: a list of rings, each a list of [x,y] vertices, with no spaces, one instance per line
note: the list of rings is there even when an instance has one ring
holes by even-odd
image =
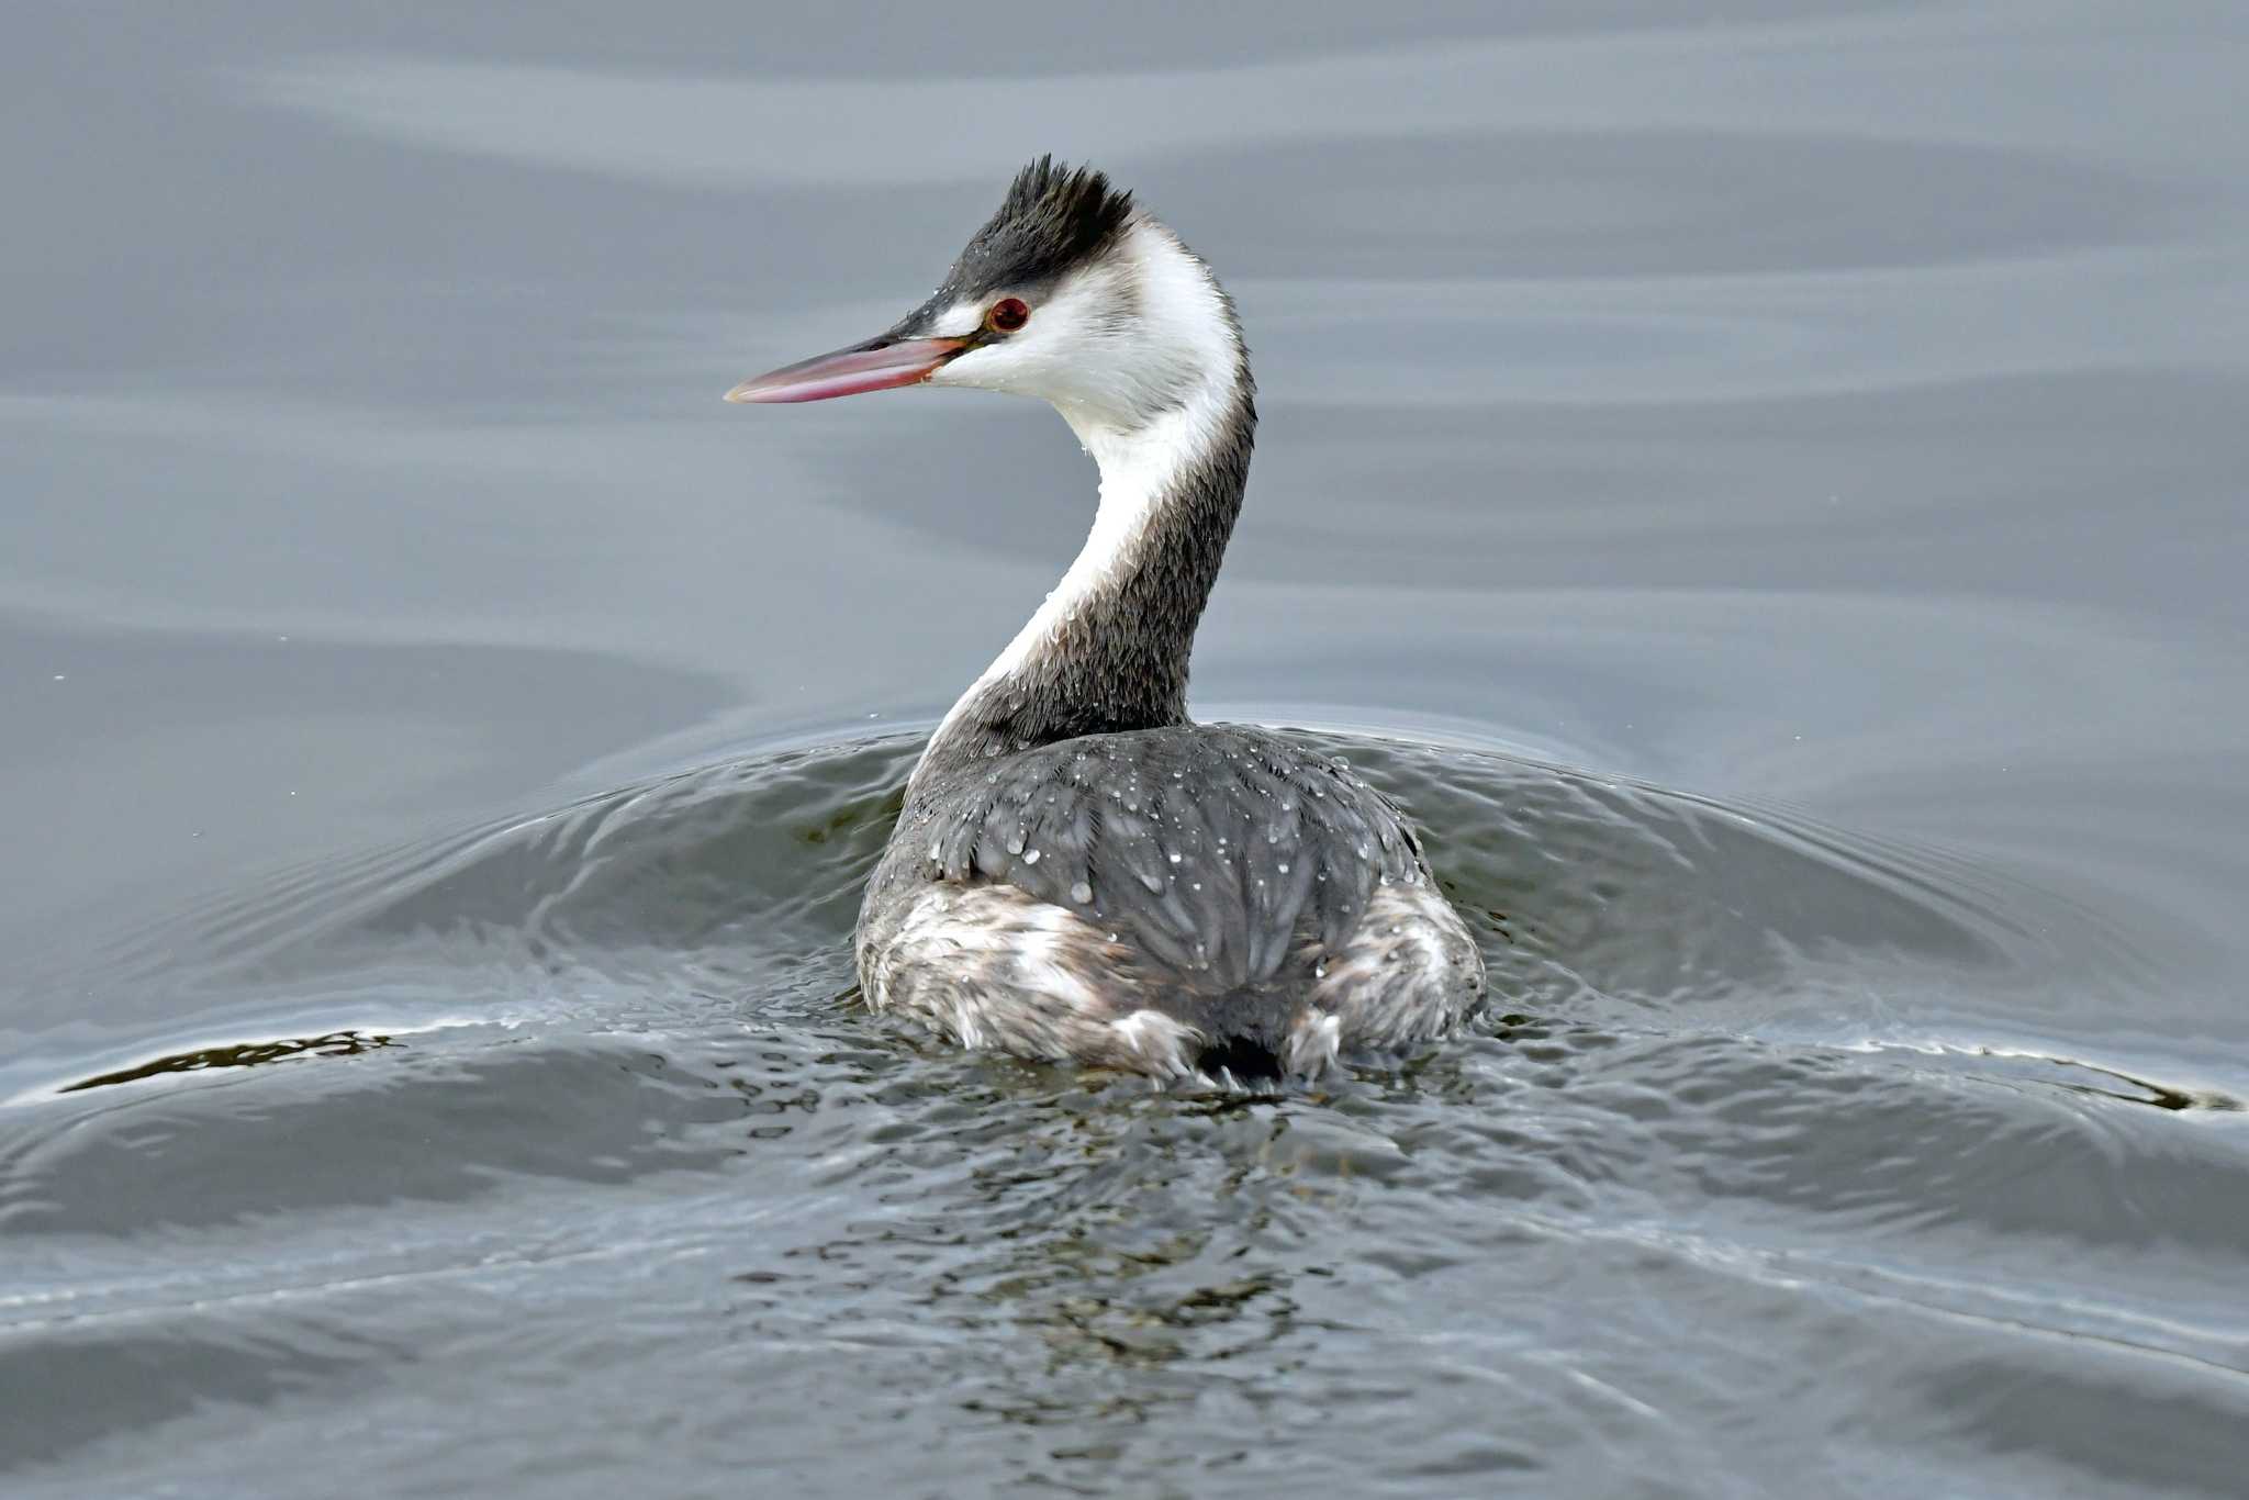
[[[747,985],[821,967],[897,814],[915,747],[713,765],[445,839],[292,870],[164,924],[229,983],[427,949],[472,967],[618,967]],[[823,969],[825,972],[825,969]]]

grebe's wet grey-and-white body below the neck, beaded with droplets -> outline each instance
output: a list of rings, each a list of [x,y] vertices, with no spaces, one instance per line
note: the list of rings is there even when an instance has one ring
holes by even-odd
[[[859,967],[875,1005],[956,1037],[1160,1075],[1316,1073],[1345,1039],[1442,1034],[1482,981],[1399,810],[1232,724],[1062,740],[924,787],[868,886]]]

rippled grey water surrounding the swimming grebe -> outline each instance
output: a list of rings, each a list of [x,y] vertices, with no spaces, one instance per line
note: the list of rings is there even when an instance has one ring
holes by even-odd
[[[2249,20],[16,7],[7,1496],[2249,1493]],[[1046,409],[720,405],[1008,173],[1262,387],[1205,717],[1493,1003],[855,1003]]]

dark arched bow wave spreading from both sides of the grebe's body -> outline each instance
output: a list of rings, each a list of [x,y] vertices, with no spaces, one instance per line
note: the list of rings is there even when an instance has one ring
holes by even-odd
[[[2008,906],[2033,893],[1934,850],[1493,751],[1298,733],[1417,814],[1511,1010],[1747,1025],[1882,969],[1921,965],[1963,985],[2035,967],[2044,913]],[[421,990],[427,1003],[385,1030],[821,1014],[852,985],[859,888],[918,744],[886,735],[706,765],[306,866],[144,929],[110,956],[115,978],[333,996],[324,1007],[351,996],[362,1012]],[[301,1034],[367,1030],[355,1019]],[[317,1050],[229,1039],[94,1073],[180,1073],[259,1046]]]

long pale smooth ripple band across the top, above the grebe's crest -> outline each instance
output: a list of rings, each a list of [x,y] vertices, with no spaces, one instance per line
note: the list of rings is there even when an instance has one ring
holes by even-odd
[[[805,79],[502,65],[360,52],[310,54],[234,79],[254,103],[430,151],[538,162],[675,187],[855,187],[969,180],[1012,166],[1023,142],[1172,155],[1241,144],[1460,130],[1725,130],[2035,137],[2177,164],[2182,130],[2222,139],[2231,76],[2186,34],[2137,38],[2161,99],[2087,110],[2114,38],[2058,25],[2038,49],[1972,13],[1873,13],[1711,34],[1466,38],[1340,56],[1145,72]],[[960,110],[963,94],[978,99]],[[2110,88],[2098,97],[2116,97]],[[1336,110],[1338,101],[1381,108]],[[1160,101],[1160,108],[1151,108]],[[1304,101],[1322,101],[1307,110]],[[807,135],[805,119],[830,128]],[[947,119],[945,130],[904,128]]]

